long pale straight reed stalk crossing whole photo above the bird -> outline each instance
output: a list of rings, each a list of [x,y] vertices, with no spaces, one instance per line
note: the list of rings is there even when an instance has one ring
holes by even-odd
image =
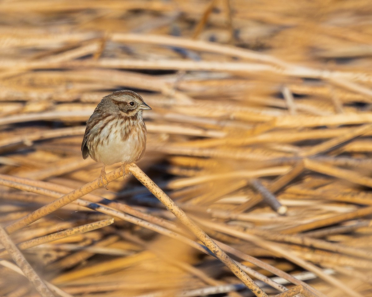
[[[148,40],[147,40],[148,41]],[[275,60],[275,58],[260,57],[265,60]],[[278,62],[278,64],[283,64],[283,62]],[[372,92],[356,83],[350,82],[343,77],[348,79],[359,79],[371,81],[371,77],[356,76],[353,73],[342,73],[342,72],[326,72],[318,69],[310,69],[299,66],[287,66],[285,68],[280,68],[278,66],[264,65],[264,64],[253,64],[253,63],[218,63],[218,62],[204,62],[204,61],[144,61],[144,60],[132,60],[132,59],[108,59],[102,58],[97,61],[64,61],[60,62],[58,59],[52,59],[52,61],[22,61],[22,66],[20,66],[19,61],[0,61],[0,68],[7,69],[17,69],[18,71],[29,71],[31,69],[38,68],[51,68],[57,69],[62,66],[68,68],[79,68],[79,67],[92,67],[96,66],[99,68],[119,68],[119,69],[162,69],[162,70],[184,70],[184,71],[227,71],[227,72],[263,72],[270,74],[277,74],[283,76],[294,76],[294,77],[305,77],[305,78],[317,78],[325,79],[340,87],[349,89],[354,92],[359,92],[364,95],[371,96]]]

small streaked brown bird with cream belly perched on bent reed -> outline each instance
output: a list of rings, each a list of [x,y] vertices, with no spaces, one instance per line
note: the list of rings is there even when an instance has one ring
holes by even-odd
[[[143,110],[151,107],[140,95],[121,90],[103,97],[87,121],[81,152],[84,159],[89,155],[103,163],[100,182],[105,188],[105,165],[122,162],[124,166],[140,160],[145,153],[147,130]]]

